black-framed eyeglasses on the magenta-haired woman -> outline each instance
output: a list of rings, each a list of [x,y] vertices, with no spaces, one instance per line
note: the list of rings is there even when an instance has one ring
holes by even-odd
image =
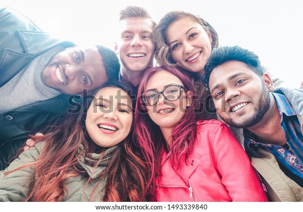
[[[166,87],[162,92],[157,91],[147,91],[141,94],[143,102],[147,106],[154,106],[159,101],[160,94],[167,100],[167,101],[176,101],[181,96],[181,89],[187,92],[187,90],[180,86],[179,84],[174,84],[172,86]]]

